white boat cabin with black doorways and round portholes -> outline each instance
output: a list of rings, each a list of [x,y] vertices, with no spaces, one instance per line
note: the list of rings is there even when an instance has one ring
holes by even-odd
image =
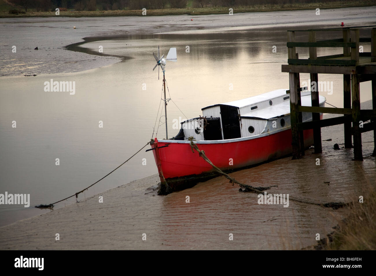
[[[243,100],[215,104],[202,109],[208,124],[193,118],[182,122],[176,140],[225,140],[255,136],[290,128],[290,95],[287,89],[278,89]],[[301,92],[302,106],[311,106],[311,92]],[[319,96],[320,106],[326,99]],[[303,122],[312,120],[312,113],[303,112]]]

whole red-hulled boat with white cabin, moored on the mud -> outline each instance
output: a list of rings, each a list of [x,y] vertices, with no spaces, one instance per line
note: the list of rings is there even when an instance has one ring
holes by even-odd
[[[311,106],[310,92],[302,92],[302,106]],[[171,191],[218,176],[191,148],[191,140],[212,163],[231,172],[291,154],[290,96],[286,89],[202,109],[203,117],[182,122],[177,136],[155,138],[152,146],[161,183]],[[326,99],[320,96],[320,106]],[[322,119],[322,114],[320,114]],[[312,113],[302,113],[303,122]],[[305,130],[304,145],[313,145],[313,131]]]

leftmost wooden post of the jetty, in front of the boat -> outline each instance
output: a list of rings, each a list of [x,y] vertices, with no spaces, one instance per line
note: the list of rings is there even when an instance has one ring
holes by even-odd
[[[287,41],[295,42],[295,32],[287,32]],[[288,58],[296,58],[296,48],[288,47]],[[300,155],[300,135],[298,130],[299,112],[298,112],[298,74],[289,72],[289,84],[290,84],[290,119],[291,119],[291,145],[293,148],[293,159],[299,159]]]

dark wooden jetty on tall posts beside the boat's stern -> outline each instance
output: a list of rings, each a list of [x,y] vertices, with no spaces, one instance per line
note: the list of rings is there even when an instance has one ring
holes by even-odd
[[[371,37],[359,38],[359,29],[362,28],[369,30]],[[317,32],[328,31],[338,32],[342,38],[316,41]],[[296,32],[308,32],[308,41],[297,42]],[[282,72],[289,73],[290,91],[287,92],[290,92],[293,159],[304,155],[303,130],[313,129],[315,153],[321,153],[321,127],[344,124],[345,148],[353,147],[354,160],[362,161],[361,134],[373,130],[376,142],[376,26],[289,30],[287,41],[288,65],[282,65]],[[359,53],[360,42],[371,42],[371,52]],[[299,59],[296,47],[309,47],[309,59]],[[318,57],[317,47],[343,48],[343,53]],[[311,86],[311,107],[301,106],[299,73],[310,74],[311,84],[308,85]],[[318,106],[318,74],[343,74],[343,108]],[[361,110],[359,83],[369,80],[372,81],[373,109]],[[302,112],[312,112],[312,121],[302,122]],[[344,116],[320,120],[320,113]],[[370,122],[366,122],[368,120]],[[375,155],[376,148],[373,151]]]

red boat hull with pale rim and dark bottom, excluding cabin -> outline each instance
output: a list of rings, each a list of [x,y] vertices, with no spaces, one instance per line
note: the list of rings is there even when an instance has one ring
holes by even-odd
[[[247,137],[250,138],[250,137]],[[205,151],[212,163],[223,171],[249,167],[265,161],[291,154],[291,128],[254,139],[232,139],[221,141],[194,141]],[[313,145],[313,131],[304,131],[305,147]],[[192,151],[188,141],[156,138],[152,143],[154,158],[161,182],[166,180],[172,191],[182,190],[213,178],[218,174],[197,151]]]

